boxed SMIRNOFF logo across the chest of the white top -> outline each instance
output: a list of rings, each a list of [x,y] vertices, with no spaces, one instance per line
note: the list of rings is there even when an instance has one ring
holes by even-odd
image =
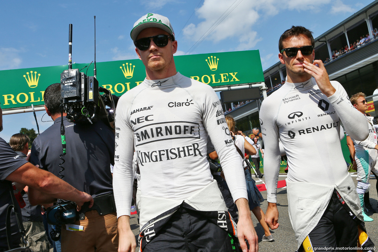
[[[170,121],[134,129],[135,146],[178,138],[200,139],[200,125],[189,121]]]

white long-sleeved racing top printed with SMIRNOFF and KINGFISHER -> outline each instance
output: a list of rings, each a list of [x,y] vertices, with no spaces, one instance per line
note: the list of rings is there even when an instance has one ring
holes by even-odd
[[[115,127],[113,188],[118,217],[130,215],[134,150],[141,176],[138,205],[143,226],[212,184],[206,159],[208,136],[233,199],[248,199],[243,170],[235,169],[242,167],[239,154],[210,86],[180,73],[161,80],[145,79],[119,99]],[[223,201],[220,192],[215,194],[210,201],[186,202],[198,210],[219,210],[211,207],[211,201]]]

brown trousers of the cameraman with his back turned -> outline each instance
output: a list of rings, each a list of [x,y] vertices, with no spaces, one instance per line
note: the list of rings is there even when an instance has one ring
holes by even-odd
[[[62,225],[62,252],[117,252],[118,221],[116,212],[99,215],[97,210],[85,213],[85,219],[73,224],[83,226],[83,231],[66,230]]]

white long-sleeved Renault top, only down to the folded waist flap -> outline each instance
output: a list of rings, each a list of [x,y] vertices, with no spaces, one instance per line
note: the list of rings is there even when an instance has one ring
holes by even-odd
[[[347,174],[340,145],[340,120],[352,138],[367,137],[364,115],[352,106],[339,82],[331,83],[336,92],[328,98],[311,78],[303,83],[286,82],[263,101],[260,125],[268,202],[276,202],[279,139],[290,164],[288,180],[335,185]]]

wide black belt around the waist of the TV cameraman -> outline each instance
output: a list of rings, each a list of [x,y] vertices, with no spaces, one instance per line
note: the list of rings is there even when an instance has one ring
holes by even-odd
[[[94,204],[89,208],[89,202],[85,202],[79,211],[79,221],[85,219],[85,213],[91,210],[97,210],[99,215],[107,215],[116,212],[116,204],[114,201],[114,194],[108,193],[105,195],[93,198]]]

